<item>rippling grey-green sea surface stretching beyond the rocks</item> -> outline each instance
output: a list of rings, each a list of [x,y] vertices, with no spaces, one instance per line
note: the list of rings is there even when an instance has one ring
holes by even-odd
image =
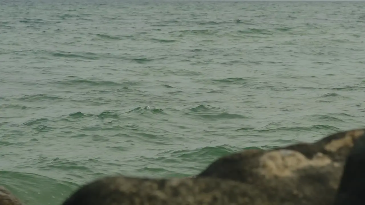
[[[0,0],[0,184],[60,204],[364,127],[365,3]]]

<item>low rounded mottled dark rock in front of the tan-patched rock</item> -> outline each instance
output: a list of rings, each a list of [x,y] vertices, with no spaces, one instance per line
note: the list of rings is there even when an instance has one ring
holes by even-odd
[[[218,178],[105,177],[82,186],[63,205],[269,205],[244,183]]]

